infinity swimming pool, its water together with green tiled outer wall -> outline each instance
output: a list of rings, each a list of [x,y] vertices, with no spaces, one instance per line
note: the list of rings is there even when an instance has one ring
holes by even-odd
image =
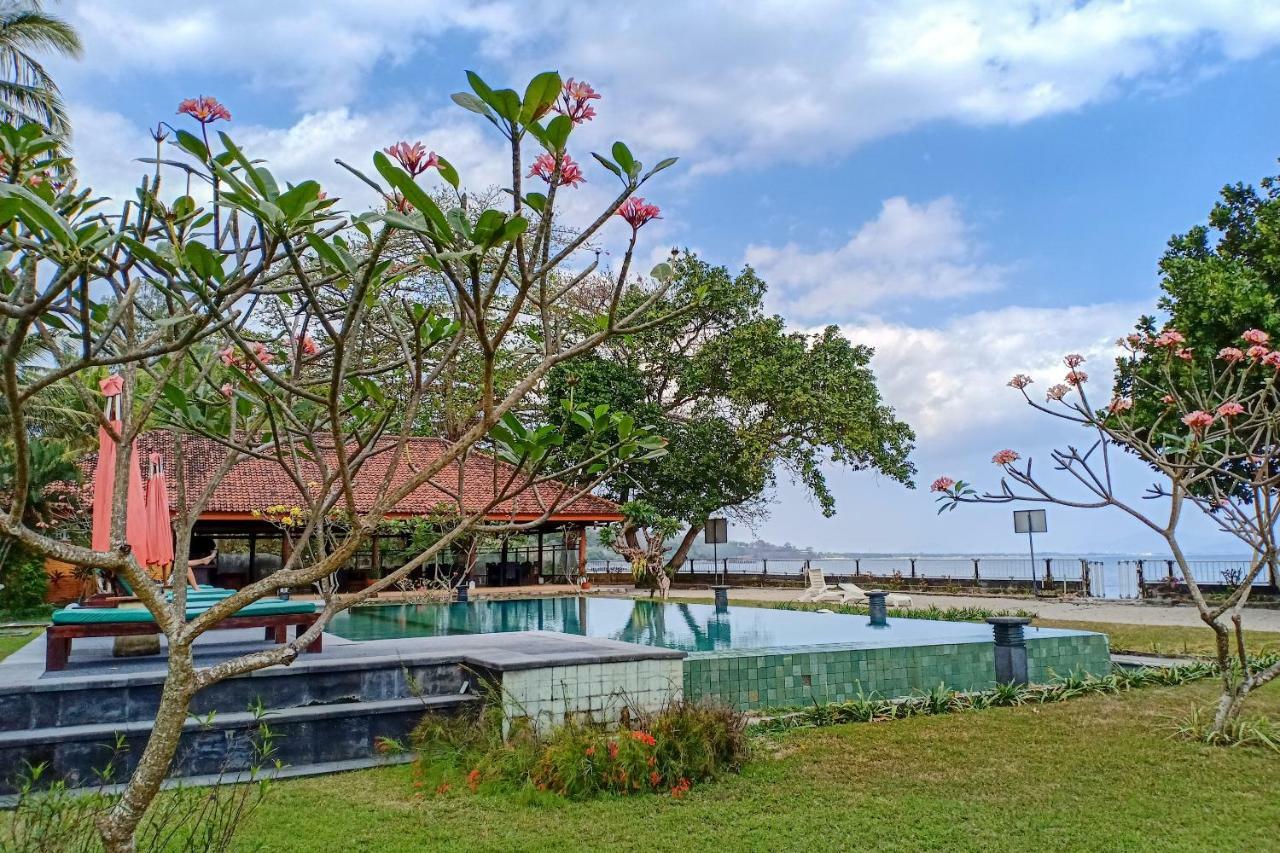
[[[983,622],[890,619],[873,628],[867,616],[570,596],[361,607],[329,630],[353,640],[544,630],[680,649],[685,698],[742,711],[996,684]],[[1105,634],[1028,628],[1025,637],[1032,681],[1111,669]]]

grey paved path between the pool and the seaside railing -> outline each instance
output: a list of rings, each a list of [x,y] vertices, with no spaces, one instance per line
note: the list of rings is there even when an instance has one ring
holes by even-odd
[[[636,593],[634,593],[636,594]],[[646,592],[637,593],[648,596]],[[799,589],[780,588],[732,588],[728,592],[730,603],[736,601],[795,601]],[[673,589],[672,596],[680,598],[712,598],[710,589]],[[987,610],[1025,610],[1043,619],[1082,621],[1082,622],[1121,622],[1128,625],[1189,625],[1202,628],[1199,613],[1192,605],[1147,605],[1137,601],[1112,601],[1084,598],[1073,601],[1033,598],[1007,598],[995,596],[938,596],[911,593],[916,607],[986,607]],[[1280,631],[1280,610],[1248,608],[1244,615],[1245,629],[1256,631]]]

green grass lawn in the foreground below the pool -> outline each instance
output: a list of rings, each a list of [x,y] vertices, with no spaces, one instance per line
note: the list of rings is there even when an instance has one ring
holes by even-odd
[[[407,767],[280,783],[266,850],[1274,849],[1274,753],[1175,742],[1212,684],[774,735],[686,799],[416,799]],[[1280,688],[1254,697],[1280,716]]]

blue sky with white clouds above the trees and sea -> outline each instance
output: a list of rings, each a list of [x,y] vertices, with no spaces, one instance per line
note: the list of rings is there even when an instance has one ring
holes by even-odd
[[[334,165],[421,140],[468,186],[500,181],[488,124],[449,100],[465,69],[522,87],[557,69],[603,93],[575,133],[586,215],[612,179],[584,151],[623,138],[654,163],[672,247],[769,283],[796,329],[837,324],[876,347],[888,403],[916,432],[916,488],[831,469],[823,519],[786,475],[760,535],[827,551],[1006,552],[1009,506],[936,515],[941,474],[995,487],[991,455],[1046,459],[1080,441],[1005,386],[1060,380],[1088,357],[1096,393],[1114,341],[1158,295],[1174,233],[1204,222],[1226,183],[1275,174],[1280,4],[1270,0],[650,0],[61,3],[79,61],[51,61],[82,181],[132,195],[147,133],[212,95],[251,156],[316,178],[361,209]],[[572,152],[572,151],[571,151]],[[622,227],[622,223],[614,223]],[[1048,465],[1041,465],[1042,470]],[[1149,478],[1121,464],[1128,494]],[[1152,506],[1158,511],[1158,506]],[[1115,510],[1050,508],[1039,548],[1161,552]],[[1207,521],[1185,542],[1235,553]]]

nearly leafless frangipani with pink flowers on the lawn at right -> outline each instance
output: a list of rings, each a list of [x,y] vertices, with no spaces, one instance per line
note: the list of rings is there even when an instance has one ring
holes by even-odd
[[[1130,397],[1114,397],[1105,407],[1093,409],[1085,393],[1088,374],[1080,368],[1084,357],[1079,355],[1066,356],[1066,377],[1048,388],[1044,402],[1028,393],[1030,377],[1019,374],[1009,382],[1037,411],[1088,432],[1084,450],[1068,446],[1051,453],[1053,471],[1075,487],[1074,494],[1050,485],[1033,470],[1032,460],[1023,460],[1014,450],[992,457],[1004,473],[997,491],[979,493],[948,476],[938,478],[933,491],[940,493],[940,512],[960,503],[1011,501],[1116,507],[1155,532],[1169,546],[1201,619],[1217,639],[1222,692],[1212,733],[1222,735],[1239,717],[1249,693],[1280,675],[1280,663],[1253,665],[1244,644],[1244,607],[1253,581],[1265,569],[1274,571],[1277,556],[1280,351],[1270,348],[1267,333],[1260,329],[1244,332],[1239,346],[1222,348],[1212,360],[1188,348],[1176,329],[1133,334],[1120,345],[1134,362],[1149,362],[1146,370],[1132,374],[1164,406],[1153,421],[1133,416]],[[1138,456],[1156,471],[1158,479],[1146,497],[1160,500],[1158,510],[1142,507],[1117,492],[1112,448]],[[1249,548],[1249,570],[1224,598],[1206,596],[1187,562],[1178,526],[1188,508],[1206,514]]]

